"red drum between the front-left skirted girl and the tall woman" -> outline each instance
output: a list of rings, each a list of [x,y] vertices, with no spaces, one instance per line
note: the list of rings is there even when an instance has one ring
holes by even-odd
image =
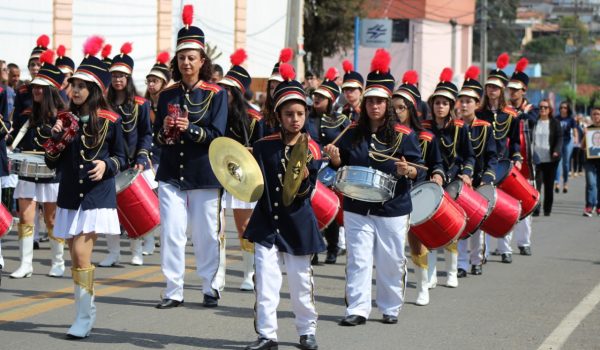
[[[119,222],[130,238],[140,238],[160,224],[158,197],[140,173],[128,169],[115,177]]]

